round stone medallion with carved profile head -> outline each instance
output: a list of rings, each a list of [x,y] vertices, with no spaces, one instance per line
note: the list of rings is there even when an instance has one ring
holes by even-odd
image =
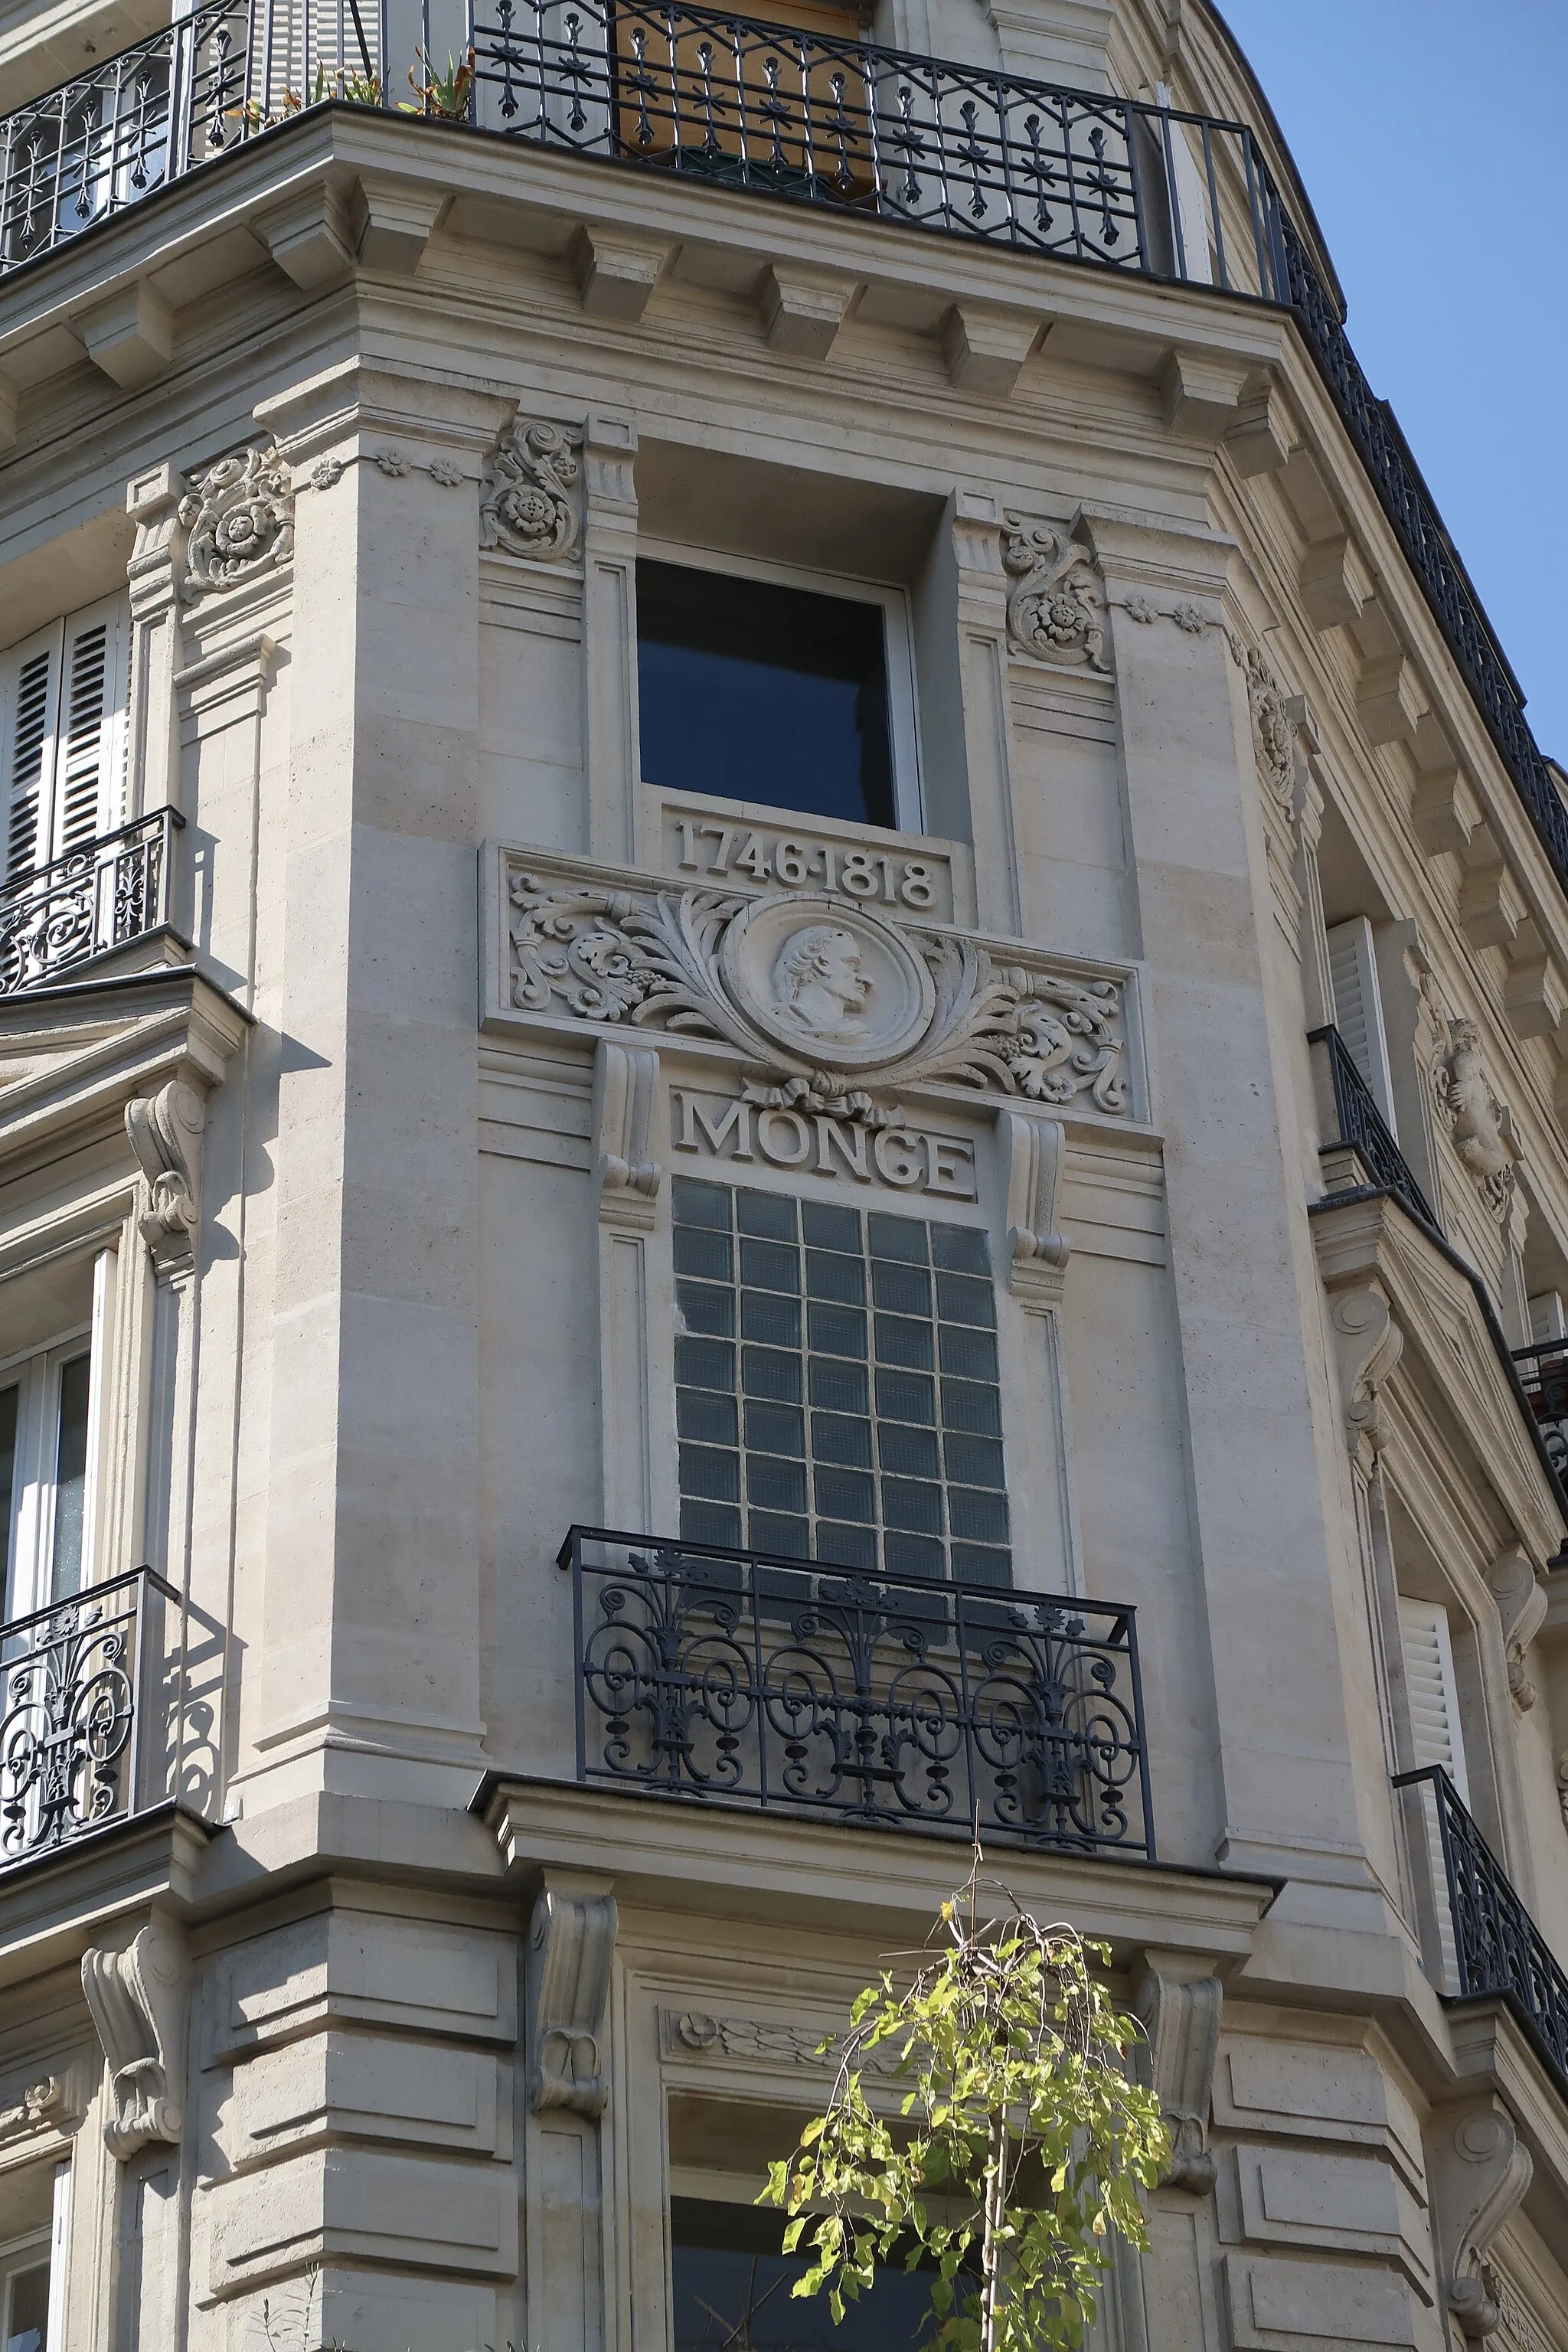
[[[839,1070],[898,1061],[936,1004],[898,931],[827,891],[743,906],[719,969],[764,1037]]]

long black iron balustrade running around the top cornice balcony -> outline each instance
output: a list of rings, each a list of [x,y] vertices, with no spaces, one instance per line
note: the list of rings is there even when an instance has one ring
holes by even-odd
[[[1241,122],[649,0],[209,0],[0,122],[0,275],[324,101],[1281,303],[1568,889],[1568,809]],[[407,92],[407,94],[404,94]]]

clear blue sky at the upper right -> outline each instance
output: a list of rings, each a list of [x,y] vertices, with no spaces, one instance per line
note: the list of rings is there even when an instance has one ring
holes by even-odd
[[[1568,764],[1568,0],[1220,0],[1392,400]]]

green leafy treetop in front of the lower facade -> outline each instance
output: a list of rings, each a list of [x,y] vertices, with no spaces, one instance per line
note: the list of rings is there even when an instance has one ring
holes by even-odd
[[[1011,1915],[980,1919],[978,1870],[976,1853],[943,1903],[945,1950],[910,1990],[884,1973],[856,1999],[827,2112],[769,2166],[759,2204],[790,2216],[785,2253],[806,2241],[795,2293],[825,2291],[835,2324],[877,2263],[924,2260],[931,2347],[1044,2352],[1081,2345],[1112,2232],[1147,2246],[1138,2192],[1171,2140],[1124,2065],[1140,2027],[1088,1969],[1107,1947],[1013,1896]],[[884,2046],[907,2082],[900,2114],[865,2096]]]

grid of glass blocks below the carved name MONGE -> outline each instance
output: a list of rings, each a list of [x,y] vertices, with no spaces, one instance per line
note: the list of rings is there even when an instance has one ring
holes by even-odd
[[[985,1235],[675,1178],[682,1536],[1011,1583]]]

